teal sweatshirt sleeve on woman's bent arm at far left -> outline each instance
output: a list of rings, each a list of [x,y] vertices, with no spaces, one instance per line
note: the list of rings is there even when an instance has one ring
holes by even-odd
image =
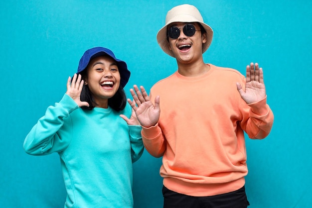
[[[46,155],[64,150],[70,143],[71,129],[63,129],[64,119],[79,106],[65,94],[59,103],[49,106],[27,134],[23,148],[31,155]],[[70,119],[67,119],[71,122]]]

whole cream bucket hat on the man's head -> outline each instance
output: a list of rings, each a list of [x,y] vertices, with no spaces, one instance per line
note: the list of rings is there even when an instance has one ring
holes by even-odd
[[[172,51],[169,50],[167,41],[167,26],[172,22],[199,22],[204,27],[207,34],[207,42],[202,46],[202,53],[209,48],[213,36],[211,27],[204,23],[200,12],[195,6],[182,4],[171,8],[167,12],[165,25],[157,33],[157,42],[166,54],[174,57]]]

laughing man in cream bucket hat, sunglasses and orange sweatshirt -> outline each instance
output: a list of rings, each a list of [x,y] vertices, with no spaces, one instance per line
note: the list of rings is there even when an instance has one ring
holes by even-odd
[[[244,131],[263,139],[272,128],[262,68],[251,63],[245,78],[205,64],[212,34],[196,7],[169,10],[157,41],[178,70],[157,82],[150,97],[134,86],[134,101],[128,100],[146,149],[162,156],[164,208],[246,208]]]

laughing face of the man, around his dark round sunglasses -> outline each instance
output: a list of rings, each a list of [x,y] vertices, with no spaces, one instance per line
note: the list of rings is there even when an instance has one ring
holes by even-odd
[[[196,32],[193,36],[188,37],[183,32],[186,24],[193,24]],[[180,28],[180,35],[176,39],[168,38],[169,49],[173,52],[174,57],[179,63],[192,63],[202,59],[202,45],[207,41],[206,33],[201,34],[198,23],[173,22],[168,28],[175,26]]]

